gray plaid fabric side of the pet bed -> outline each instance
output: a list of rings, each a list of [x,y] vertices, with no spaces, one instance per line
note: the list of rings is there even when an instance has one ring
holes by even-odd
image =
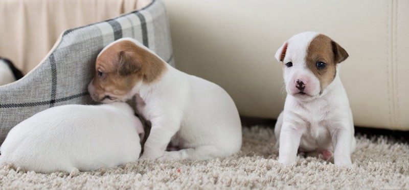
[[[115,19],[70,29],[45,61],[24,78],[0,87],[0,142],[19,122],[49,107],[94,104],[87,85],[103,47],[131,37],[174,66],[168,19],[160,0]]]

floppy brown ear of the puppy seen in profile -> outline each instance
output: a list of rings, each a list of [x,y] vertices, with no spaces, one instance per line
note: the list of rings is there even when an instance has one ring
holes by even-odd
[[[118,74],[126,76],[141,69],[141,64],[131,51],[119,52]]]

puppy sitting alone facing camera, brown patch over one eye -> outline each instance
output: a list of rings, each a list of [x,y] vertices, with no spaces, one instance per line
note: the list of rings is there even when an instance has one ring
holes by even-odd
[[[335,165],[352,165],[354,124],[347,93],[339,79],[339,63],[348,58],[329,37],[304,32],[278,49],[283,62],[287,98],[277,119],[275,135],[279,162],[292,164],[297,150],[316,151]]]

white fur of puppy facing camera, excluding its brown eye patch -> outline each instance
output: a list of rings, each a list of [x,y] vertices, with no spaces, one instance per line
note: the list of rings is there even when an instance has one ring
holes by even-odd
[[[283,72],[287,97],[275,127],[279,162],[293,164],[298,150],[334,150],[335,165],[350,166],[355,150],[354,125],[347,93],[339,78],[339,64],[333,82],[320,93],[320,81],[305,63],[307,47],[317,35],[300,33],[285,42],[288,48],[283,63],[291,61],[293,66],[284,67]],[[279,61],[283,46],[276,53]],[[310,97],[295,94],[299,92],[295,88],[298,78],[309,84],[305,92]]]

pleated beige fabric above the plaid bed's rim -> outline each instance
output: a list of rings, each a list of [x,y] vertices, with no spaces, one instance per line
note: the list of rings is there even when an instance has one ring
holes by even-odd
[[[0,1],[0,57],[27,73],[46,57],[64,30],[114,18],[151,1]]]

